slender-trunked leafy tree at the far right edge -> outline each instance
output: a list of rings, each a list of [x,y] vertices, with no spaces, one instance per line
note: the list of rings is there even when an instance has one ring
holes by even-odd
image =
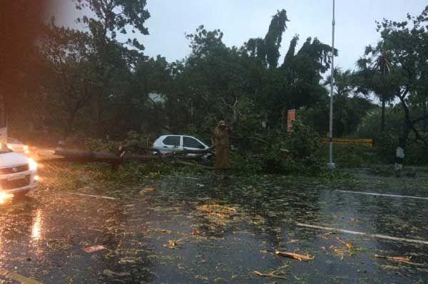
[[[382,45],[390,52],[389,88],[399,99],[404,112],[403,130],[399,146],[403,149],[410,142],[420,141],[428,146],[426,137],[420,133],[418,123],[427,119],[419,115],[418,102],[426,96],[428,65],[428,6],[419,16],[407,15],[407,21],[397,22],[384,19],[378,23],[377,31],[382,36]]]

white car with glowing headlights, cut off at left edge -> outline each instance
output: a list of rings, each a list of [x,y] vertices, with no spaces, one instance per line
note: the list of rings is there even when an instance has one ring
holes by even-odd
[[[27,194],[36,189],[37,179],[37,163],[0,142],[0,197]]]

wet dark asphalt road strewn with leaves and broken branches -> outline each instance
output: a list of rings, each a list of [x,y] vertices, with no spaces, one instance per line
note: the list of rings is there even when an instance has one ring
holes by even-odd
[[[1,205],[0,283],[428,283],[428,199],[337,191],[428,197],[425,178],[76,185]]]

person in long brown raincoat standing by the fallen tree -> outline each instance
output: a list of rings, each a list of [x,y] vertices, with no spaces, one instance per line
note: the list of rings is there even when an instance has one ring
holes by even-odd
[[[228,125],[220,120],[214,129],[215,137],[215,163],[214,168],[223,174],[223,179],[228,178],[229,162],[229,135]]]

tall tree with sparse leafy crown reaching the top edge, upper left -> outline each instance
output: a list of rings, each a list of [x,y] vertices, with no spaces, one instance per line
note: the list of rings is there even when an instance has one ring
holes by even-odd
[[[96,63],[98,76],[102,84],[96,91],[96,124],[98,135],[106,134],[105,121],[108,116],[108,103],[111,86],[114,87],[114,75],[127,65],[131,69],[136,62],[142,61],[144,46],[136,39],[126,36],[131,33],[148,34],[144,26],[150,14],[145,9],[146,0],[73,0],[76,9],[89,11],[88,15],[77,21],[88,26],[92,46],[96,51],[93,62]],[[118,33],[128,37],[126,42],[118,41]],[[117,88],[113,88],[113,90]],[[108,118],[107,118],[108,119]]]

